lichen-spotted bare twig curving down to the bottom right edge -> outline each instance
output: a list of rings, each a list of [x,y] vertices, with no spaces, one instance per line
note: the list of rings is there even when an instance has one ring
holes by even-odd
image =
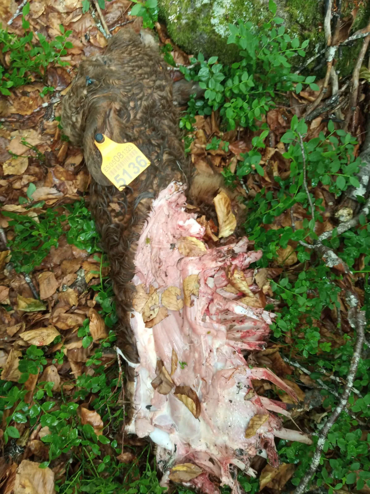
[[[356,305],[357,305],[357,297],[355,294],[352,293],[352,299],[356,299]],[[352,312],[351,312],[352,311]],[[339,417],[341,412],[343,412],[344,408],[347,405],[348,398],[351,394],[352,387],[353,387],[353,382],[355,380],[357,368],[359,365],[360,357],[361,357],[361,351],[362,347],[364,344],[364,333],[365,333],[365,314],[364,312],[360,312],[357,308],[352,307],[350,311],[348,312],[348,321],[350,325],[356,329],[357,332],[357,340],[356,344],[354,346],[354,351],[353,351],[353,357],[351,360],[351,365],[347,374],[347,382],[344,387],[343,393],[340,397],[339,403],[336,406],[335,410],[332,412],[328,420],[326,421],[324,427],[321,429],[321,432],[319,434],[319,439],[316,445],[316,450],[315,453],[312,456],[312,461],[311,461],[311,466],[308,470],[308,472],[305,474],[305,476],[302,478],[300,481],[299,485],[297,488],[294,490],[293,494],[303,494],[307,490],[307,486],[312,478],[312,476],[315,474],[319,464],[320,464],[320,459],[321,459],[321,453],[323,452],[324,449],[324,444],[326,441],[326,438],[328,436],[328,433],[336,421],[336,419]]]

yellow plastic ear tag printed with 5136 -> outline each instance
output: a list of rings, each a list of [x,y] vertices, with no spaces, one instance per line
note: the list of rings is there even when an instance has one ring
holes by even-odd
[[[94,142],[102,157],[101,171],[119,190],[150,165],[148,158],[132,142],[119,144],[104,134],[96,134]]]

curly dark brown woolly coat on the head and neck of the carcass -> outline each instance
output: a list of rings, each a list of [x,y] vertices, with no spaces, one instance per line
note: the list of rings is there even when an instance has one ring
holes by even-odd
[[[173,180],[189,183],[191,168],[185,159],[173,105],[172,81],[166,66],[146,34],[122,29],[104,55],[80,64],[63,100],[63,131],[74,145],[82,146],[92,175],[90,208],[111,264],[116,294],[120,347],[131,362],[138,362],[129,323],[137,240],[152,200]],[[123,192],[101,172],[96,133],[115,142],[133,142],[151,165]],[[194,181],[194,203],[210,203],[221,186],[220,175]],[[191,193],[189,194],[191,195]],[[121,216],[113,221],[110,203],[119,200]]]

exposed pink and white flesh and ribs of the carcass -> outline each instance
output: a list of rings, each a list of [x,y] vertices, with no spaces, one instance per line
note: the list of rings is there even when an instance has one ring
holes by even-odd
[[[239,486],[233,469],[253,475],[250,461],[255,455],[267,457],[273,466],[279,464],[275,436],[305,443],[310,439],[282,427],[274,413],[289,416],[284,403],[253,392],[252,380],[267,379],[296,398],[272,371],[249,368],[242,353],[264,348],[274,314],[233,300],[235,296],[223,290],[230,268],[237,266],[246,272],[262,252],[248,251],[248,240],[243,238],[233,245],[209,248],[199,257],[181,254],[176,248],[178,239],[201,240],[205,235],[196,214],[186,211],[184,191],[185,186],[172,182],[153,202],[137,247],[133,283],[144,284],[147,292],[150,287],[157,288],[159,294],[177,287],[184,298],[183,281],[199,275],[199,293],[191,294],[191,307],[184,303],[178,311],[168,309],[168,316],[153,328],[146,328],[142,315],[132,312],[140,364],[135,365],[134,410],[126,430],[149,436],[158,445],[164,483],[176,464],[193,463],[203,473],[187,485],[216,494],[211,475],[236,494]],[[171,373],[173,351],[178,363]],[[151,384],[158,361],[171,374],[173,387],[168,394],[160,394]],[[180,386],[196,393],[198,412],[191,411],[194,400],[188,407],[176,396]],[[246,430],[255,415],[264,416],[265,421],[249,437]]]

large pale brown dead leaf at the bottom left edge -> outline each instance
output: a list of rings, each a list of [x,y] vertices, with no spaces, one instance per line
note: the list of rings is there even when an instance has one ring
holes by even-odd
[[[14,482],[14,494],[54,494],[54,472],[36,461],[22,460]]]

